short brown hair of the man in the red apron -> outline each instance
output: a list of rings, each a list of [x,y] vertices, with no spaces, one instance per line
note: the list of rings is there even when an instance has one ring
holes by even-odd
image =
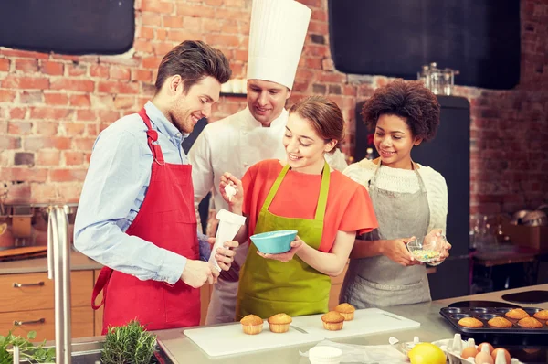
[[[163,56],[158,67],[156,92],[160,91],[163,82],[169,77],[180,75],[184,81],[184,92],[196,82],[211,76],[225,83],[230,80],[230,65],[223,52],[211,48],[200,40],[185,40]]]

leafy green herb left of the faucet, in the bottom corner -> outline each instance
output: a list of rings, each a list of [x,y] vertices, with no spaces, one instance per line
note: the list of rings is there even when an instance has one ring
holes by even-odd
[[[7,351],[8,347],[19,347],[21,359],[26,359],[31,363],[52,362],[55,358],[55,348],[44,348],[46,340],[40,345],[35,346],[28,340],[37,337],[36,331],[30,331],[25,337],[19,337],[12,334],[10,330],[7,336],[0,336],[0,364],[10,364],[14,361],[12,352]]]

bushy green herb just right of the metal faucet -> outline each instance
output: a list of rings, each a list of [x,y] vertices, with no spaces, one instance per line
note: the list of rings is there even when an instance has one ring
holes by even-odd
[[[100,359],[103,364],[149,364],[155,350],[156,336],[133,320],[122,327],[109,327]]]

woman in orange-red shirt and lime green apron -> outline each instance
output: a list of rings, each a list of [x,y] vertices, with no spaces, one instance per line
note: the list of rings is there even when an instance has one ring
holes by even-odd
[[[248,169],[242,180],[226,173],[220,190],[232,212],[247,224],[235,240],[273,230],[298,230],[290,252],[263,254],[250,243],[241,268],[237,319],[327,312],[330,276],[342,273],[356,232],[376,227],[365,188],[324,160],[344,137],[336,103],[311,97],[290,109],[283,145],[287,160],[266,160]],[[225,187],[237,188],[227,198]]]

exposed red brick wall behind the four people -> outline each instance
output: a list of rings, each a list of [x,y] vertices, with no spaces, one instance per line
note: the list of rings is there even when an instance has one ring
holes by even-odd
[[[313,10],[292,101],[319,93],[348,121],[388,79],[333,69],[327,0]],[[136,0],[133,48],[120,56],[68,57],[0,48],[0,181],[8,201],[78,201],[97,134],[152,95],[163,54],[184,39],[221,48],[245,77],[251,0]],[[548,198],[548,2],[522,0],[522,81],[512,91],[457,87],[471,103],[471,212],[534,208]],[[223,97],[212,120],[245,105]]]

